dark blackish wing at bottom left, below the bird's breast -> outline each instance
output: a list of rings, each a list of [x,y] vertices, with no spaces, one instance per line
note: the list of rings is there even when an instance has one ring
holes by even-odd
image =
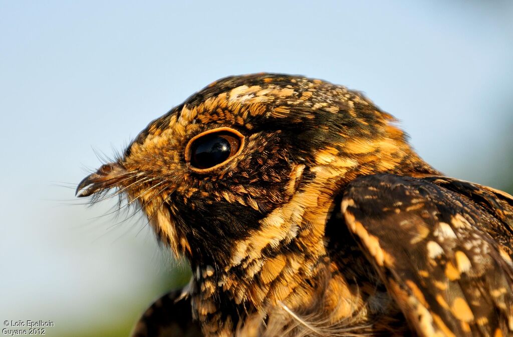
[[[198,321],[193,321],[190,301],[182,290],[166,293],[146,309],[131,337],[202,336]]]

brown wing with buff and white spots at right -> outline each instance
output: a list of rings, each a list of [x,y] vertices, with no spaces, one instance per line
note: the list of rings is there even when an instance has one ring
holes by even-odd
[[[420,336],[513,335],[513,198],[446,177],[355,179],[342,212]]]

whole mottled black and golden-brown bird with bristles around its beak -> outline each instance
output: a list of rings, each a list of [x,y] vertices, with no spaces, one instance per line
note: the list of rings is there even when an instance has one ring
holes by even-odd
[[[192,270],[132,336],[513,335],[513,197],[437,171],[344,86],[217,80],[76,195],[109,191]]]

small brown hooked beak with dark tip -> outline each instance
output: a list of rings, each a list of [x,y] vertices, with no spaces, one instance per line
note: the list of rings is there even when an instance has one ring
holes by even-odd
[[[98,168],[98,171],[85,177],[76,187],[75,195],[79,198],[116,186],[126,179],[128,173],[118,163],[108,163]]]

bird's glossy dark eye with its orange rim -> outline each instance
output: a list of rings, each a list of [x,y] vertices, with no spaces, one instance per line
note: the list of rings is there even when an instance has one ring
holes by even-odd
[[[212,150],[219,149],[219,145],[222,144],[224,152],[213,153],[215,158],[212,156]],[[198,173],[207,173],[215,170],[216,168],[225,165],[236,155],[238,155],[244,147],[244,135],[239,131],[232,128],[216,128],[202,132],[192,137],[187,145],[185,146],[185,162],[188,164],[192,171]],[[209,149],[208,153],[198,153],[198,151]],[[228,154],[227,151],[230,151]],[[205,154],[207,155],[205,158]],[[209,164],[212,163],[212,166]]]

